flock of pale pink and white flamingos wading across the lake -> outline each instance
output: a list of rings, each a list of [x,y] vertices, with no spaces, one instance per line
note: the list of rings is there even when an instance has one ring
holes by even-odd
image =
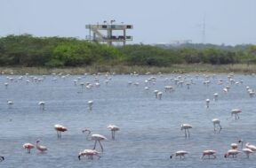
[[[28,74],[26,74],[28,76]],[[55,75],[55,74],[54,74]],[[138,75],[137,73],[132,73],[132,75]],[[161,76],[162,74],[159,73],[159,75]],[[61,76],[61,78],[67,78],[68,75],[59,75]],[[107,80],[105,80],[105,83],[106,85],[108,84],[109,80],[111,80],[111,77],[109,75],[106,75],[107,76]],[[236,81],[233,79],[233,76],[234,74],[233,73],[230,73],[228,74],[228,80],[229,80],[229,83],[230,85],[240,85],[243,83],[243,80],[240,80],[240,81]],[[209,86],[211,84],[211,81],[209,80],[209,78],[211,77],[211,75],[205,75],[205,79],[203,84],[205,86]],[[214,75],[213,75],[214,77]],[[22,80],[24,77],[20,76],[18,78],[18,80]],[[33,81],[33,82],[42,82],[44,81],[44,78],[46,78],[46,76],[42,76],[42,78],[38,78],[38,77],[32,77],[31,80],[26,80],[27,83]],[[12,77],[6,77],[7,80],[9,81],[15,81],[17,79],[13,79]],[[57,80],[57,78],[54,78],[54,80]],[[92,83],[84,83],[81,81],[81,78],[77,78],[77,80],[74,80],[74,85],[80,85],[81,86],[81,91],[77,92],[77,93],[82,93],[84,88],[87,88],[87,89],[90,89],[90,88],[93,88],[93,87],[100,87],[100,82],[99,82],[99,79],[97,76],[95,76],[94,78],[95,80],[95,83],[92,84]],[[173,79],[167,79],[166,80],[172,80],[175,84],[176,87],[180,87],[180,86],[183,86],[184,83],[186,83],[186,86],[187,88],[189,89],[191,87],[192,84],[195,84],[193,80],[187,80],[185,78],[182,78],[181,76],[177,76],[176,78],[173,78]],[[156,77],[150,77],[148,78],[148,80],[145,80],[144,81],[145,84],[146,84],[146,87],[144,88],[145,90],[149,90],[150,88],[150,85],[154,85],[154,83],[156,83]],[[218,84],[219,85],[223,85],[223,80],[222,79],[219,79],[218,81]],[[140,83],[139,82],[132,82],[132,81],[129,81],[128,82],[128,86],[139,86]],[[8,82],[5,82],[4,83],[4,87],[7,89],[9,86],[9,83]],[[228,94],[228,91],[230,89],[230,86],[226,86],[225,88],[223,88],[223,92],[224,93],[227,93]],[[154,90],[152,95],[154,94],[156,99],[159,99],[159,100],[162,100],[164,97],[163,95],[164,94],[167,94],[168,92],[172,92],[174,90],[174,87],[170,86],[170,85],[167,85],[164,87],[164,91],[160,91],[160,90]],[[248,95],[250,95],[250,97],[253,97],[255,95],[255,92],[252,88],[250,87],[246,87],[246,90],[248,92]],[[213,94],[214,98],[213,100],[214,101],[218,101],[218,98],[219,98],[219,94],[218,93],[214,93]],[[88,107],[89,107],[89,111],[93,112],[92,111],[92,106],[93,106],[93,101],[90,100],[87,102],[88,103]],[[210,103],[211,103],[211,100],[210,98],[207,98],[205,100],[205,107],[206,109],[209,109],[210,108]],[[9,108],[12,108],[12,105],[14,104],[12,102],[12,100],[7,100],[7,104],[8,104],[8,107]],[[40,111],[45,111],[45,102],[44,101],[40,101],[38,103],[39,107],[40,107]],[[235,117],[235,120],[239,119],[239,114],[242,113],[242,110],[240,109],[233,109],[230,111],[230,114],[231,114],[231,117]],[[216,133],[220,133],[220,131],[222,130],[222,126],[220,126],[220,119],[219,118],[212,118],[212,124],[213,124],[213,131]],[[180,129],[181,131],[184,130],[184,133],[185,133],[185,138],[189,138],[190,137],[190,133],[189,133],[189,130],[192,129],[193,126],[191,126],[190,124],[187,124],[187,123],[183,123],[181,124],[180,126]],[[113,141],[115,141],[116,139],[116,131],[119,131],[120,128],[118,126],[115,126],[115,125],[109,125],[107,127],[110,131],[111,131],[111,139]],[[68,128],[65,127],[65,126],[61,126],[60,124],[56,124],[54,126],[54,129],[56,130],[57,132],[57,138],[60,139],[61,138],[61,134],[68,131]],[[93,156],[95,157],[98,157],[100,158],[100,153],[103,152],[103,146],[101,144],[101,141],[105,141],[105,140],[108,140],[106,138],[106,136],[104,135],[101,135],[101,134],[92,134],[92,131],[89,129],[89,128],[85,128],[83,129],[82,131],[83,134],[86,134],[86,140],[88,141],[94,141],[94,145],[93,145],[93,148],[92,149],[84,149],[83,151],[80,151],[78,153],[78,159],[80,160],[81,157],[87,157],[88,159],[92,159]],[[47,151],[47,147],[43,146],[43,145],[40,145],[39,144],[40,140],[37,140],[36,141],[36,145],[30,143],[30,142],[26,142],[23,144],[23,148],[24,149],[27,149],[27,152],[28,154],[31,152],[31,149],[34,149],[36,148],[39,152],[46,152]],[[237,143],[241,143],[241,150],[238,149],[238,144]],[[96,150],[96,146],[97,144],[100,145],[100,151]],[[224,157],[237,157],[237,155],[241,152],[244,152],[244,154],[246,155],[246,157],[249,158],[249,156],[253,153],[256,152],[256,146],[250,144],[249,142],[246,142],[245,143],[245,147],[244,147],[244,141],[243,140],[239,140],[239,141],[236,141],[236,143],[232,143],[231,145],[231,149],[229,149],[227,151],[227,153],[224,154]],[[215,159],[216,158],[216,154],[217,151],[215,149],[206,149],[202,152],[202,159],[204,158],[212,158],[212,159]],[[186,155],[188,155],[189,152],[186,151],[186,150],[178,150],[174,153],[171,154],[170,158],[172,157],[180,157],[180,159],[183,159],[185,158]],[[4,161],[4,157],[1,157],[0,156],[0,162]]]

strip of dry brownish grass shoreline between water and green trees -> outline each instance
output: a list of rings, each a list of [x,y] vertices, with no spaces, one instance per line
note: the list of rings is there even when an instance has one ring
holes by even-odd
[[[116,74],[156,74],[156,73],[241,73],[250,74],[256,73],[256,65],[172,65],[168,67],[158,66],[138,66],[138,65],[90,65],[79,67],[61,67],[61,68],[46,68],[46,67],[21,67],[21,66],[6,66],[0,67],[1,74],[17,74],[24,75],[37,74],[95,74],[95,73],[116,73]]]

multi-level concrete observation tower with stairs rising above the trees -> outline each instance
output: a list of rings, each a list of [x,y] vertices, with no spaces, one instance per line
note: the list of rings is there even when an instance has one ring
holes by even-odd
[[[132,36],[126,35],[126,30],[132,29],[133,26],[125,24],[117,25],[113,24],[114,22],[116,20],[110,20],[109,23],[104,21],[103,24],[85,25],[85,28],[89,29],[89,35],[86,35],[86,40],[107,43],[108,45],[113,45],[113,42],[122,42],[125,45],[127,41],[132,41]],[[117,32],[118,35],[116,35]]]

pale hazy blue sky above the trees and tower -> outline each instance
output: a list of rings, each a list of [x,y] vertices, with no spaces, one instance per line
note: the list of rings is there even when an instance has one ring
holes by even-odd
[[[256,44],[256,0],[0,0],[0,36],[84,39],[86,24],[133,25],[128,43]]]

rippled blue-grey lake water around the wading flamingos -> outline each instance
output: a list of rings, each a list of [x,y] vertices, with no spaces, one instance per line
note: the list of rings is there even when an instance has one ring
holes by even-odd
[[[156,81],[146,83],[152,76]],[[175,85],[178,76],[184,80],[183,86]],[[0,167],[255,167],[255,154],[248,159],[244,153],[236,158],[224,158],[224,153],[230,143],[240,139],[256,144],[256,98],[246,90],[247,86],[256,88],[256,76],[235,74],[232,79],[239,83],[231,84],[227,74],[210,75],[211,84],[206,86],[203,74],[108,76],[111,79],[98,75],[100,87],[95,86],[95,77],[28,75],[19,80],[15,75],[9,75],[9,79],[0,76],[0,156],[5,157]],[[34,78],[44,80],[36,82]],[[223,79],[222,85],[219,79]],[[74,80],[79,80],[77,85]],[[186,82],[191,80],[188,89]],[[80,82],[94,86],[82,88]],[[174,91],[164,92],[167,85]],[[223,91],[226,86],[230,86],[228,93]],[[162,100],[156,99],[156,89],[163,92]],[[214,93],[219,94],[218,101],[213,101]],[[206,98],[211,100],[209,109]],[[12,106],[7,100],[12,100]],[[92,111],[89,100],[93,100]],[[45,102],[45,111],[40,110],[40,101]],[[233,109],[243,111],[240,119],[231,118]],[[212,118],[220,118],[220,134],[213,132]],[[189,138],[180,130],[183,123],[193,126]],[[61,139],[57,139],[55,124],[68,127]],[[111,140],[108,124],[120,127],[115,141]],[[100,159],[77,158],[79,151],[93,147],[93,141],[87,141],[82,133],[85,127],[108,138],[102,141]],[[46,153],[32,149],[28,154],[22,149],[23,143],[36,144],[38,139],[48,148]],[[186,158],[170,159],[180,149],[189,152]],[[201,159],[204,149],[217,150],[217,158]]]

